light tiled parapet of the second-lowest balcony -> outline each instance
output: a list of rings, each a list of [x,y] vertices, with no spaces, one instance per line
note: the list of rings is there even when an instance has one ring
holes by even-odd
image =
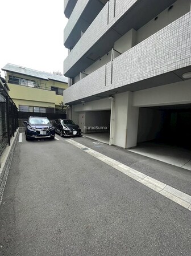
[[[128,0],[128,1],[115,1],[111,0],[106,3],[103,9],[99,12],[97,17],[84,32],[81,39],[73,47],[72,51],[69,53],[67,58],[64,60],[64,73],[66,76],[76,76],[76,67],[75,63],[78,62],[90,50],[98,41],[106,34],[107,31],[114,25],[118,19],[126,13],[138,0]],[[115,15],[114,15],[115,10]],[[69,36],[69,24],[72,21],[68,22],[68,26],[65,28],[64,37]],[[115,35],[117,36],[117,35]],[[116,40],[116,38],[115,38]],[[109,50],[109,49],[108,49]],[[107,52],[107,51],[106,51]],[[83,67],[84,69],[86,67]]]

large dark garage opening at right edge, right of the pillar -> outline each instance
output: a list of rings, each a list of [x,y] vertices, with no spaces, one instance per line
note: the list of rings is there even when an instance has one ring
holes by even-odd
[[[191,104],[139,109],[137,147],[130,151],[191,170]]]

